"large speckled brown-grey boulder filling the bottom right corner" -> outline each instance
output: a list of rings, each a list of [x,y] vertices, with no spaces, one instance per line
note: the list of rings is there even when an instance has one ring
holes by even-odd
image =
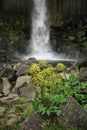
[[[74,98],[68,96],[67,102],[60,106],[60,110],[62,114],[59,120],[62,123],[87,130],[87,112]]]

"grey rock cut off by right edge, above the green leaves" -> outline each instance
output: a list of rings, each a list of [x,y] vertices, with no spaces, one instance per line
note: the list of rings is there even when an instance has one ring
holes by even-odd
[[[81,81],[87,81],[87,67],[80,68],[79,76]]]

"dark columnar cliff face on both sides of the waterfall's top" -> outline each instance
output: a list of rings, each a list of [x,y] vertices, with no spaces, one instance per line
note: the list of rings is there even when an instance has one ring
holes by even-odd
[[[61,25],[64,20],[87,17],[87,0],[47,0],[50,25]],[[33,0],[1,0],[0,12],[30,18]],[[11,15],[10,15],[11,16]]]

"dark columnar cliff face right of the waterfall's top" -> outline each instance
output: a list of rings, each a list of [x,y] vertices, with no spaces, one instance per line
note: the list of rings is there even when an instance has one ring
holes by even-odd
[[[64,20],[87,17],[87,0],[48,0],[51,25],[61,25]]]

